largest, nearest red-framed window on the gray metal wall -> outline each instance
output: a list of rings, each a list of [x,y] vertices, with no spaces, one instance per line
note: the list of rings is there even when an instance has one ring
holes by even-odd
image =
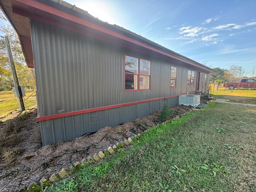
[[[150,61],[124,56],[125,90],[150,89]]]

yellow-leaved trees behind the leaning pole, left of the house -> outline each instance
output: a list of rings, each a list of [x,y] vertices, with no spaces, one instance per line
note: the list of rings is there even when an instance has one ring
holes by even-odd
[[[7,21],[1,11],[0,20]],[[34,69],[28,68],[26,66],[20,41],[15,30],[12,28],[12,26],[10,26],[10,24],[4,24],[4,22],[0,22],[0,34],[0,91],[10,90],[13,86],[12,74],[5,45],[6,40],[4,36],[6,35],[10,39],[10,46],[12,49],[12,55],[14,58],[14,64],[16,67],[20,85],[34,89],[36,87],[34,79]]]

